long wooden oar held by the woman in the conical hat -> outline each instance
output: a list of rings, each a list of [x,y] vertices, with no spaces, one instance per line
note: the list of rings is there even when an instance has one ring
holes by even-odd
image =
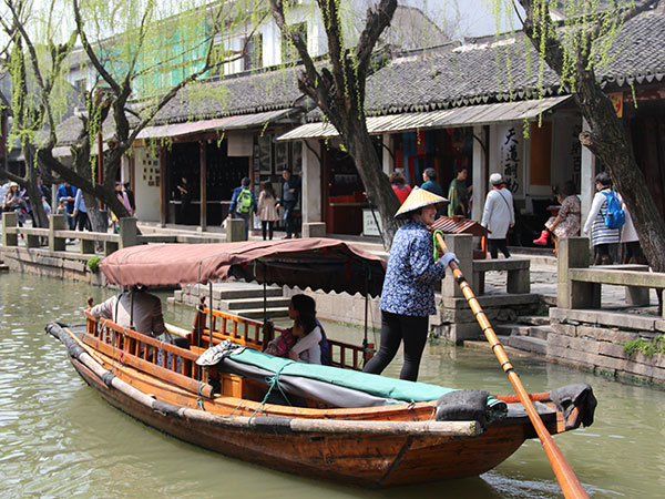
[[[448,247],[446,246],[446,242],[443,241],[443,237],[441,237],[441,234],[438,232],[436,233],[436,240],[441,251],[443,253],[447,253]],[[538,411],[535,410],[535,407],[533,407],[533,403],[529,398],[529,394],[524,389],[524,386],[522,385],[520,377],[518,376],[512,364],[510,363],[508,355],[505,355],[503,346],[501,345],[501,343],[499,343],[499,338],[497,338],[497,334],[494,333],[494,329],[492,328],[488,316],[482,310],[482,307],[480,306],[480,303],[478,303],[478,299],[475,298],[471,286],[469,286],[469,283],[464,278],[464,274],[462,274],[462,271],[460,271],[460,267],[454,261],[450,262],[449,266],[452,271],[454,279],[460,285],[460,288],[462,289],[467,302],[469,302],[469,306],[471,307],[471,310],[473,310],[473,314],[475,315],[475,318],[480,324],[482,332],[484,333],[485,337],[488,338],[488,342],[492,346],[492,352],[499,359],[499,363],[501,363],[503,371],[508,375],[508,379],[510,379],[510,383],[512,384],[515,393],[518,394],[520,401],[524,406],[524,409],[529,415],[529,419],[535,428],[538,438],[540,438],[541,442],[543,444],[543,448],[545,449],[548,459],[550,459],[550,464],[552,465],[552,469],[554,470],[556,480],[559,480],[559,485],[561,486],[563,495],[566,498],[587,498],[589,496],[582,488],[580,480],[577,480],[577,477],[573,472],[573,469],[563,457],[563,452],[561,452],[561,449],[556,446],[556,444],[554,444],[554,439],[545,428],[545,425],[543,424],[543,420],[540,418]]]

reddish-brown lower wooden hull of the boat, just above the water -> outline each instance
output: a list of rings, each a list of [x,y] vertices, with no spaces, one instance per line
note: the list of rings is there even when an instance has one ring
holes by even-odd
[[[112,406],[184,441],[276,470],[361,487],[388,487],[483,473],[526,438],[524,425],[490,427],[475,438],[294,434],[235,428],[155,411],[103,383],[72,358],[81,377]]]

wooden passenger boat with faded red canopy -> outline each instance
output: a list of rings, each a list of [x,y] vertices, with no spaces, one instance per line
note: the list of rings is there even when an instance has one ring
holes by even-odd
[[[308,275],[313,288],[380,289],[380,258],[335,240],[227,246],[132,247],[105,258],[102,269],[125,285],[205,283],[228,275],[293,284]],[[168,268],[145,272],[151,261]],[[307,271],[299,266],[304,263]],[[284,272],[289,268],[300,271]],[[375,272],[371,279],[360,276],[368,268]],[[47,330],[112,406],[185,441],[289,473],[372,488],[469,477],[535,437],[516,396],[362,374],[371,347],[334,339],[332,366],[272,357],[259,352],[269,326],[211,310],[204,298],[191,330],[174,330],[190,349],[85,316],[84,328],[50,324]],[[229,346],[225,340],[245,350],[208,367],[197,364],[214,352],[208,348]],[[294,395],[299,406],[283,401]],[[552,434],[593,421],[595,398],[587,385],[530,397]]]

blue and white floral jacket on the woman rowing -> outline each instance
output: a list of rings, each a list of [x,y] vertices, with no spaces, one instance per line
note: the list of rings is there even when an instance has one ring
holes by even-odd
[[[402,225],[392,240],[379,308],[418,317],[434,314],[434,283],[444,275],[446,265],[434,263],[426,225],[415,221]]]

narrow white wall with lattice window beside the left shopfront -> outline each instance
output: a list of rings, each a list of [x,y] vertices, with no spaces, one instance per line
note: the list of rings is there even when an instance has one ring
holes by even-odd
[[[146,147],[135,147],[134,164],[136,218],[160,222],[160,183],[165,182],[160,179],[160,161]]]

